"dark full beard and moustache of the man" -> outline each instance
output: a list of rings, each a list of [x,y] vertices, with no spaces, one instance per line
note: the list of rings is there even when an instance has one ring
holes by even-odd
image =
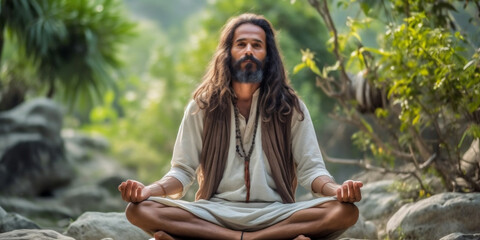
[[[252,62],[247,63],[245,69],[242,69],[241,64],[247,60]],[[253,64],[256,65],[255,70],[252,70]],[[254,56],[247,55],[233,63],[233,74],[238,82],[260,83],[263,80],[263,63]]]

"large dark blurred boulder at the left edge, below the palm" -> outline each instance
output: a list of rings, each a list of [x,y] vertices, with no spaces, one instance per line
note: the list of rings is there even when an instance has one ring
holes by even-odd
[[[49,195],[72,180],[61,128],[62,110],[48,99],[0,113],[0,194]]]

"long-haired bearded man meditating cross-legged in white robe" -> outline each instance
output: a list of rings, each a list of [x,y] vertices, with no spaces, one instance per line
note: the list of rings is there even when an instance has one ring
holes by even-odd
[[[156,239],[332,238],[355,224],[363,184],[338,185],[325,169],[268,20],[225,25],[193,98],[166,176],[119,186],[132,224]],[[196,201],[175,200],[195,175]],[[295,202],[297,182],[324,197]]]

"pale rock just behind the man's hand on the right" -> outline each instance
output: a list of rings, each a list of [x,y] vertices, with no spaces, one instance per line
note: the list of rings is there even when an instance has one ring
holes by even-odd
[[[400,208],[400,195],[388,191],[393,182],[394,180],[384,180],[365,184],[362,188],[362,200],[355,204],[365,219],[377,219],[393,214]]]

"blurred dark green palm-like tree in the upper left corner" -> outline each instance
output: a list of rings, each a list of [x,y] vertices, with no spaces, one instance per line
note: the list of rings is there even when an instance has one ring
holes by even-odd
[[[46,96],[60,95],[71,106],[91,104],[113,87],[119,43],[132,34],[133,25],[119,6],[115,0],[0,0],[0,56],[5,41],[16,39],[14,46],[23,53],[17,60],[31,62],[38,80],[47,86]],[[10,69],[7,75],[18,66],[8,60],[1,62]],[[12,84],[21,77],[2,78]]]

